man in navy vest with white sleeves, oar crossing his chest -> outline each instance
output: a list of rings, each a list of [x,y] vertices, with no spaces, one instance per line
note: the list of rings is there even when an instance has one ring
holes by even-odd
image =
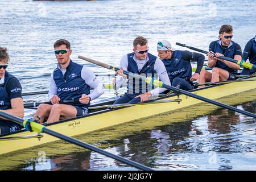
[[[120,61],[120,68],[117,71],[118,77],[114,79],[116,88],[119,88],[125,81],[123,71],[137,73],[138,75],[158,77],[167,85],[171,85],[168,78],[166,68],[163,62],[156,56],[148,53],[147,39],[137,36],[133,42],[133,52],[124,55]],[[143,80],[139,80],[132,76],[128,77],[127,93],[118,98],[114,104],[136,104],[138,102],[147,101],[148,97],[157,97],[159,93],[164,92],[164,88],[152,88],[150,84],[146,84]]]

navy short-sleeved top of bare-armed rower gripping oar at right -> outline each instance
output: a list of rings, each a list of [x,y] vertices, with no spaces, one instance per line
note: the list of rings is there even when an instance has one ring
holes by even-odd
[[[222,53],[222,55],[232,59],[234,59],[235,55],[242,55],[241,47],[236,42],[231,41],[228,48],[224,49],[221,47],[220,41],[221,40],[216,40],[210,43],[209,51],[213,51],[214,53]],[[213,47],[211,47],[212,45]],[[237,49],[237,47],[240,47],[240,49]],[[229,68],[228,65],[219,60],[217,60],[215,67],[225,69],[226,71],[233,74],[237,74],[237,69]]]

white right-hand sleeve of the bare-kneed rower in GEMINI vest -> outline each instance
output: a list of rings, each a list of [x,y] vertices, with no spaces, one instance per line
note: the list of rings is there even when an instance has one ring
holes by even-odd
[[[91,100],[100,97],[104,93],[104,86],[89,68],[82,67],[81,77],[90,88],[93,88],[93,91],[88,95]]]

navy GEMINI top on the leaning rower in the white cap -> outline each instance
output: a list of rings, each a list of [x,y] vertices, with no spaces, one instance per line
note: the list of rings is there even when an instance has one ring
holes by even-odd
[[[176,50],[172,53],[171,59],[164,59],[162,61],[166,67],[171,82],[175,77],[189,80],[192,76],[191,63],[190,61],[183,59],[182,51]]]

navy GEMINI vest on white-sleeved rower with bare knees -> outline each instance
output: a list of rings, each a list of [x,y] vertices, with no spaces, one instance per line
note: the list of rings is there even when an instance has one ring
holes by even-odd
[[[61,100],[77,99],[80,98],[82,94],[88,95],[90,93],[90,86],[82,79],[81,71],[82,65],[73,63],[72,60],[70,60],[64,76],[59,68],[55,69],[53,79],[57,86],[57,96],[60,97]],[[71,105],[81,107],[88,106],[80,102]]]

